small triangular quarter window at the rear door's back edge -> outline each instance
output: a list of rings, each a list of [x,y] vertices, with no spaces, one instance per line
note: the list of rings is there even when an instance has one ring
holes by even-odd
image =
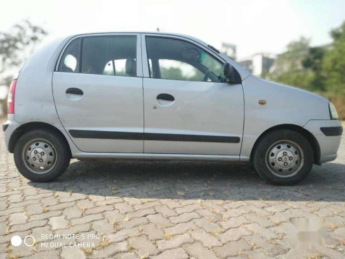
[[[80,40],[73,40],[66,48],[59,64],[60,72],[79,73]]]

